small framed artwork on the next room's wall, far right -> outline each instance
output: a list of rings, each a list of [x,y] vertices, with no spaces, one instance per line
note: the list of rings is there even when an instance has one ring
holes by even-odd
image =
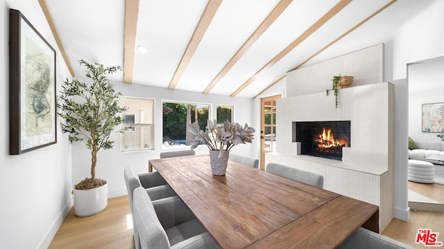
[[[444,103],[422,104],[422,132],[444,130]]]

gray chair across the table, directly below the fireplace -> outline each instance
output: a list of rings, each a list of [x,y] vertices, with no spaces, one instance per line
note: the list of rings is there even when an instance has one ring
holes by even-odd
[[[324,187],[324,177],[320,174],[307,172],[302,169],[296,169],[287,165],[280,165],[278,163],[268,163],[265,167],[266,172],[277,174],[294,181],[306,183],[315,187]]]

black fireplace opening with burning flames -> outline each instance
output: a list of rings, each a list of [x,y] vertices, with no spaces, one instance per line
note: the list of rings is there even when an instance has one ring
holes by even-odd
[[[293,122],[293,142],[300,142],[300,154],[342,160],[342,148],[350,147],[350,121]]]

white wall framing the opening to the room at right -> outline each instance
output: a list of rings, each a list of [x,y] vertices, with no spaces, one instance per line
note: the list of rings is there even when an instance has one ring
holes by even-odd
[[[428,8],[402,24],[398,33],[394,34],[393,40],[385,46],[385,70],[390,73],[386,74],[386,80],[395,84],[396,98],[394,216],[404,220],[409,219],[409,208],[403,208],[407,200],[407,171],[404,169],[407,164],[407,156],[404,155],[407,155],[407,152],[404,151],[407,151],[407,137],[420,122],[420,120],[413,121],[410,117],[410,113],[415,111],[410,110],[410,107],[412,104],[415,105],[416,97],[408,94],[410,82],[406,80],[407,64],[444,55],[443,9],[444,1],[432,1]]]

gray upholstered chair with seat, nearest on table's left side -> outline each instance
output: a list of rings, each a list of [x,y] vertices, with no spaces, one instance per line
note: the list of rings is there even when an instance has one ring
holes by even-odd
[[[219,248],[178,196],[151,201],[138,187],[133,205],[142,249]]]

